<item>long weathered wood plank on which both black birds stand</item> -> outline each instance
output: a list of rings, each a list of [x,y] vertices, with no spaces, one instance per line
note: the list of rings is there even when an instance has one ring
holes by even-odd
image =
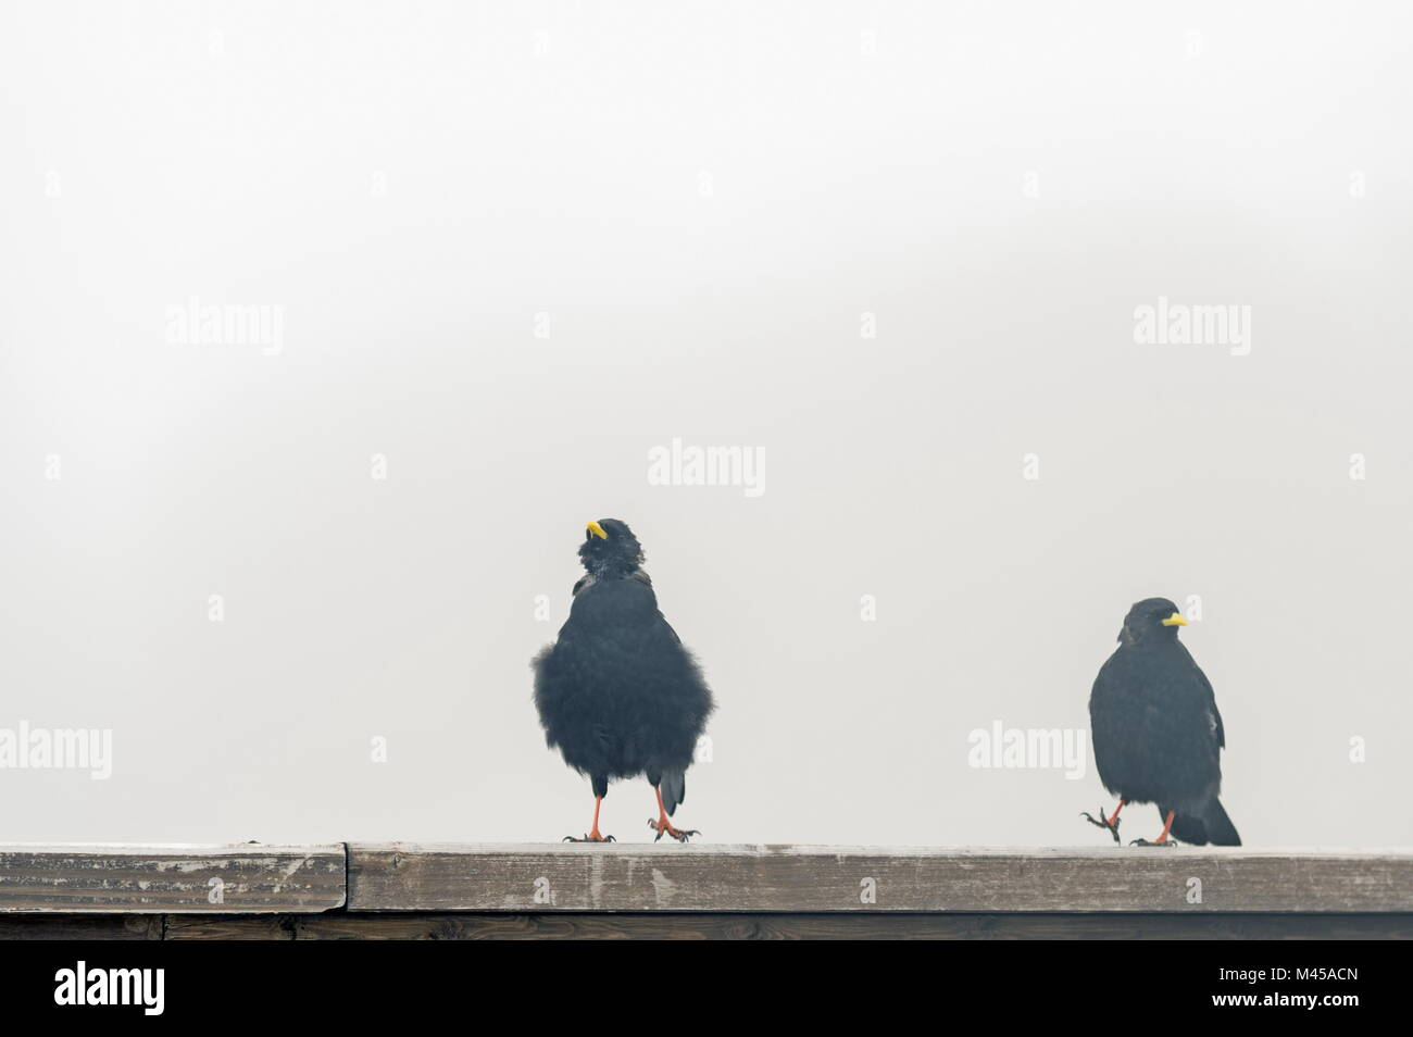
[[[350,911],[1413,911],[1410,851],[349,845]]]

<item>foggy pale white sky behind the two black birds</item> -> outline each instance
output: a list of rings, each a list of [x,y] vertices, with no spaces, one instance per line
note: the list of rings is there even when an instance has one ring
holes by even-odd
[[[0,839],[582,832],[528,660],[620,517],[719,701],[708,841],[1104,845],[1092,762],[968,732],[1085,728],[1198,595],[1246,843],[1409,843],[1410,21],[7,4],[0,728],[113,776],[0,770]],[[192,297],[278,349],[171,342]],[[1251,353],[1135,343],[1160,297]],[[764,493],[649,485],[674,438]]]

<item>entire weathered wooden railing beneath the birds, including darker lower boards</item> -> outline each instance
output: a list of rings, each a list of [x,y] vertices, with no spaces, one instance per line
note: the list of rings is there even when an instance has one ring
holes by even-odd
[[[0,937],[1413,935],[1413,851],[0,846]]]

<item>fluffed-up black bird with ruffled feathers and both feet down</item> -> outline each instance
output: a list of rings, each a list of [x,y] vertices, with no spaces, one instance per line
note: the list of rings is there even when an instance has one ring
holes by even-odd
[[[589,523],[579,545],[588,575],[569,619],[534,657],[534,704],[545,742],[593,786],[593,828],[572,842],[609,842],[599,807],[610,778],[646,774],[657,793],[657,838],[697,835],[668,817],[687,798],[687,767],[712,711],[692,654],[657,610],[643,548],[627,523]]]

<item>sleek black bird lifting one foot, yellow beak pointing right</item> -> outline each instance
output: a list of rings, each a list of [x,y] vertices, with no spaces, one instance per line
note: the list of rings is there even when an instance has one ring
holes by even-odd
[[[1089,694],[1089,729],[1099,780],[1119,805],[1109,818],[1089,818],[1119,841],[1119,811],[1129,802],[1157,804],[1163,834],[1194,845],[1241,846],[1222,810],[1222,715],[1207,675],[1177,640],[1187,626],[1166,598],[1139,602],[1123,617],[1119,647],[1099,670]]]

